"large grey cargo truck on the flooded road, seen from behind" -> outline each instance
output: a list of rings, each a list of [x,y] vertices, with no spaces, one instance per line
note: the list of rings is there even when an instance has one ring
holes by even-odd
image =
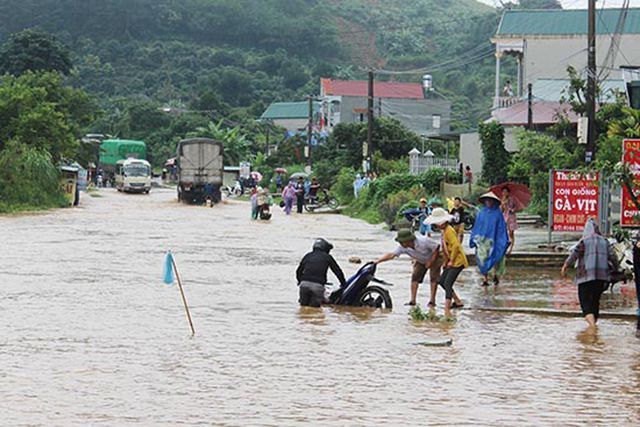
[[[218,203],[223,179],[223,145],[208,138],[178,143],[178,200],[187,203]]]

